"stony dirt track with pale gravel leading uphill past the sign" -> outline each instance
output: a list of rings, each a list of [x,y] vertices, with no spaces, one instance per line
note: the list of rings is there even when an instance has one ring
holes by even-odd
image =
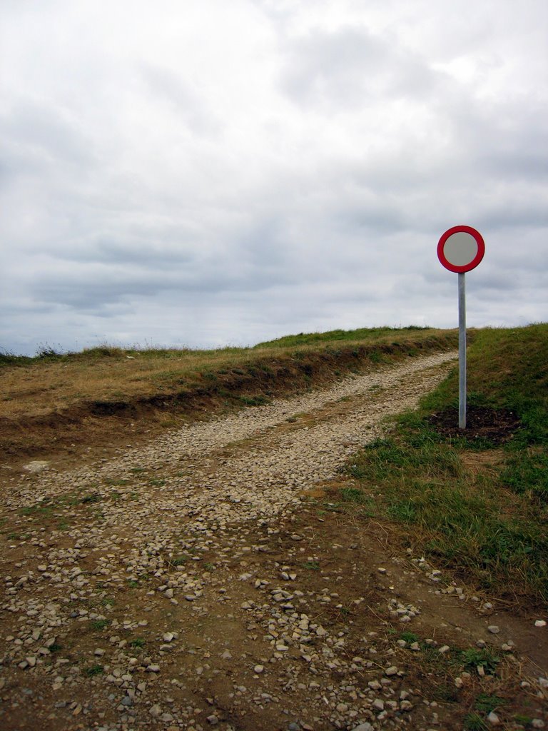
[[[311,501],[452,360],[9,479],[0,727],[456,730],[505,693],[540,728],[539,629]]]

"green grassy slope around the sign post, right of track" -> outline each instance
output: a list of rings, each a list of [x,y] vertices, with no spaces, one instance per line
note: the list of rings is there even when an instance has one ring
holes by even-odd
[[[520,419],[509,439],[441,436],[458,423],[458,371],[346,468],[344,509],[395,521],[408,545],[525,608],[548,600],[548,325],[479,330],[468,404]],[[458,430],[457,430],[458,431]]]

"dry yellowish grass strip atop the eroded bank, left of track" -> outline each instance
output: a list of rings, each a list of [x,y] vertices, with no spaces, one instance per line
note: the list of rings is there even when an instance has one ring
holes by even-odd
[[[403,336],[402,336],[403,335]],[[411,349],[443,330],[392,331],[368,340],[368,345],[393,342]],[[0,418],[39,416],[62,412],[86,401],[127,401],[186,390],[237,368],[248,369],[268,360],[287,360],[300,354],[348,350],[363,341],[330,341],[321,345],[267,346],[222,350],[96,349],[52,359],[29,359],[24,365],[0,369]],[[101,351],[104,355],[101,355]],[[86,357],[87,355],[87,357]]]

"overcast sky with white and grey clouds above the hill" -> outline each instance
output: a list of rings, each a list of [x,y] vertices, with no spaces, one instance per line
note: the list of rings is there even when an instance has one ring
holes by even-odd
[[[0,349],[548,319],[546,0],[3,0]]]

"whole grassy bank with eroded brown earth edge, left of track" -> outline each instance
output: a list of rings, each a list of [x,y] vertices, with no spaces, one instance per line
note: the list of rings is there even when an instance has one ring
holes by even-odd
[[[454,330],[363,328],[220,350],[100,346],[36,357],[0,354],[0,450],[40,457],[135,443],[183,420],[265,404],[351,372],[454,348]],[[102,444],[100,444],[102,442]]]

